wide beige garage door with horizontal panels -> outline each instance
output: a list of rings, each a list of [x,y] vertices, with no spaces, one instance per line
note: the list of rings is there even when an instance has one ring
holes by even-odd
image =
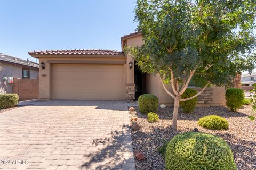
[[[53,64],[51,82],[52,99],[123,99],[121,64]]]

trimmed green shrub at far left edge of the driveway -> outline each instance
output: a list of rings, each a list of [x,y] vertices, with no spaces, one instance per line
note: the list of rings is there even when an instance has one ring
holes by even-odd
[[[18,105],[17,94],[0,94],[0,109],[12,108]]]

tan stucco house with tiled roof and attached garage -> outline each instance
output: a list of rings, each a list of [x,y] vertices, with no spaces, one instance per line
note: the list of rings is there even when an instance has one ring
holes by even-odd
[[[121,43],[122,50],[125,45],[141,45],[142,33],[121,37]],[[42,64],[39,69],[40,100],[134,100],[141,94],[150,93],[158,97],[159,103],[173,103],[159,77],[141,73],[129,54],[86,49],[35,51],[29,55],[39,58]],[[206,88],[198,97],[198,105],[225,105],[225,89]]]

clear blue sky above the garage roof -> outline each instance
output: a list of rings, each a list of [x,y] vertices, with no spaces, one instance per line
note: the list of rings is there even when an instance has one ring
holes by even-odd
[[[137,28],[135,5],[135,0],[0,1],[0,53],[36,61],[28,52],[121,50],[120,38]]]

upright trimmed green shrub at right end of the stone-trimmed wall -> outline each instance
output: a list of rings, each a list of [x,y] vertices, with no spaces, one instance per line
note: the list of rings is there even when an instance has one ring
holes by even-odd
[[[226,106],[230,111],[236,111],[238,108],[243,106],[244,91],[242,89],[227,89],[226,90]]]

